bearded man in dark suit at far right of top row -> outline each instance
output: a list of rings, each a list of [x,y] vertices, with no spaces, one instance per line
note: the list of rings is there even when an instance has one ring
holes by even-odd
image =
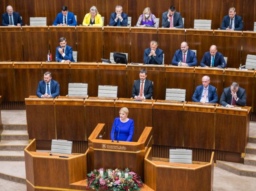
[[[221,29],[228,31],[243,31],[243,19],[236,15],[236,9],[231,7],[228,10],[228,15],[223,17]]]

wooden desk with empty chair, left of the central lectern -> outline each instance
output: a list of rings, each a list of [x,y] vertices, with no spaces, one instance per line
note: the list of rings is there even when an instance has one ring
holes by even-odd
[[[85,190],[87,186],[87,152],[78,155],[36,151],[35,139],[24,149],[28,191]]]

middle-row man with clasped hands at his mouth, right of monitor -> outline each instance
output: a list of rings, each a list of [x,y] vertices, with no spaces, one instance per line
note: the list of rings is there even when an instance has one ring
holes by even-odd
[[[163,64],[163,50],[158,48],[155,40],[150,42],[150,48],[144,50],[143,62],[145,64]]]

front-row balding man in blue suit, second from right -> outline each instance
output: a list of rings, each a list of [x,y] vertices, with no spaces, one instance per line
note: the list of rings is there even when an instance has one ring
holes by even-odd
[[[202,77],[202,85],[198,85],[192,97],[193,102],[216,104],[218,95],[216,87],[210,85],[210,77]]]

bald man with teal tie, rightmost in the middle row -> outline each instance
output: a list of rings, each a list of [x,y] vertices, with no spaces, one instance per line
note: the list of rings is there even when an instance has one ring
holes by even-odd
[[[223,55],[217,51],[217,46],[215,45],[211,45],[210,51],[204,53],[200,66],[221,68],[227,67]]]

